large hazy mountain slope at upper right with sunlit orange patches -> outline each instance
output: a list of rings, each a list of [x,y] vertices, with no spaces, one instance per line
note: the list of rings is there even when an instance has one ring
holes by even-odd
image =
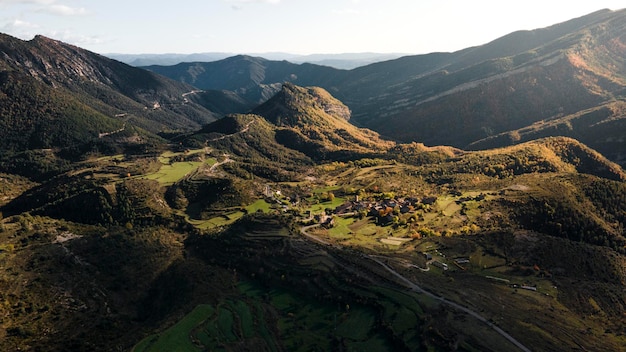
[[[420,65],[425,70],[409,79],[380,84],[372,103],[352,107],[354,118],[400,140],[465,148],[493,134],[619,100],[626,80],[618,33],[625,25],[626,11],[599,11],[444,55],[437,64]],[[370,69],[385,72],[384,67]],[[349,106],[364,100],[347,95]]]

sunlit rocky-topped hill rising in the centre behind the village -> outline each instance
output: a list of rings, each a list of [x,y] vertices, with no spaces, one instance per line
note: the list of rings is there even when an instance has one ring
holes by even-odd
[[[257,176],[262,177],[280,175],[280,170],[302,171],[314,162],[380,156],[395,145],[355,127],[349,119],[350,110],[324,89],[285,83],[249,114],[228,115],[208,124],[186,137],[184,144],[236,155],[248,167],[260,163],[264,171]]]

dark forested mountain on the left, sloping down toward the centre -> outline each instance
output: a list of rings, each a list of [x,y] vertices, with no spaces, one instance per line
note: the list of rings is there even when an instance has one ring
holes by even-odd
[[[251,108],[43,36],[0,35],[0,53],[0,165],[29,177],[86,155],[155,148],[158,133]]]

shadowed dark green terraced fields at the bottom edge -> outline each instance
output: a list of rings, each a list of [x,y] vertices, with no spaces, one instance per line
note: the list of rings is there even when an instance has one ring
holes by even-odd
[[[133,352],[250,350],[328,351],[335,336],[348,350],[389,350],[377,312],[357,303],[312,300],[286,289],[240,282],[242,295],[217,307],[199,305],[174,326],[146,337]],[[268,314],[268,312],[272,312]],[[271,318],[270,318],[271,316]]]

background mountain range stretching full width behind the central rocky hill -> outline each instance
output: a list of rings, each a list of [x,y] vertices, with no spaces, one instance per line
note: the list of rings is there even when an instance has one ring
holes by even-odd
[[[79,104],[104,115],[98,118],[107,124],[92,136],[121,129],[129,119],[150,132],[197,128],[228,113],[250,111],[283,82],[292,82],[325,88],[348,106],[352,124],[398,141],[486,149],[564,135],[623,163],[626,151],[619,131],[626,79],[619,33],[625,16],[624,11],[602,10],[479,47],[352,70],[251,56],[146,67],[173,80],[41,36],[30,42],[3,36],[3,65],[11,67],[3,81],[14,85],[12,76],[25,74],[40,90],[79,92],[84,96]],[[18,47],[22,49],[13,49]],[[47,62],[44,56],[57,59]],[[72,64],[70,56],[79,61]],[[74,78],[59,80],[52,68]],[[78,77],[85,80],[77,84]],[[27,133],[38,133],[38,123],[27,127]],[[39,144],[45,148],[50,143]]]

